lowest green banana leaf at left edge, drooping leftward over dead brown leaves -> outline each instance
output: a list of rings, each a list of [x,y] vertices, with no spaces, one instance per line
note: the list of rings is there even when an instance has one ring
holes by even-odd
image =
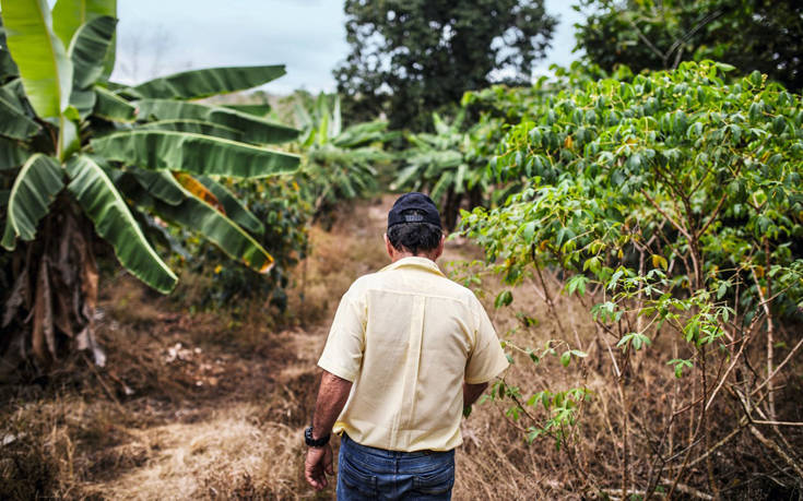
[[[62,169],[56,158],[37,153],[27,159],[14,179],[9,193],[9,205],[2,246],[14,250],[16,237],[31,241],[36,227],[48,213],[50,203],[64,187]]]

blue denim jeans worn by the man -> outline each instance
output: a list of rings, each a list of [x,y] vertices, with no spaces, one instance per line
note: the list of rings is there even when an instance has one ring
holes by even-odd
[[[338,500],[449,500],[454,485],[454,451],[398,452],[368,448],[343,433]]]

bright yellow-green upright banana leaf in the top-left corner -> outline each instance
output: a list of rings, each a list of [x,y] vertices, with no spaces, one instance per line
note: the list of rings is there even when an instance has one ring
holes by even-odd
[[[9,50],[25,95],[40,118],[59,117],[72,92],[72,63],[50,28],[47,0],[0,0]]]

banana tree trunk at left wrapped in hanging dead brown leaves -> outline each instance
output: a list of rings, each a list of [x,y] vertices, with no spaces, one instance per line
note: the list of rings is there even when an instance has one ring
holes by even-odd
[[[33,355],[38,371],[75,350],[105,356],[95,342],[97,264],[91,223],[63,195],[42,222],[37,239],[19,246],[4,263],[15,277],[2,298],[0,380]]]

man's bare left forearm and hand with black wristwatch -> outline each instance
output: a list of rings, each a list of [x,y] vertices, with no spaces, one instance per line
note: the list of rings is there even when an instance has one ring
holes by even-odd
[[[343,410],[351,391],[351,381],[326,370],[321,373],[318,399],[315,403],[315,415],[312,416],[314,439],[320,439],[332,432],[334,421]],[[327,475],[334,475],[332,445],[327,443],[322,448],[307,449],[307,458],[304,463],[304,476],[307,482],[316,490],[321,490],[329,484]]]

